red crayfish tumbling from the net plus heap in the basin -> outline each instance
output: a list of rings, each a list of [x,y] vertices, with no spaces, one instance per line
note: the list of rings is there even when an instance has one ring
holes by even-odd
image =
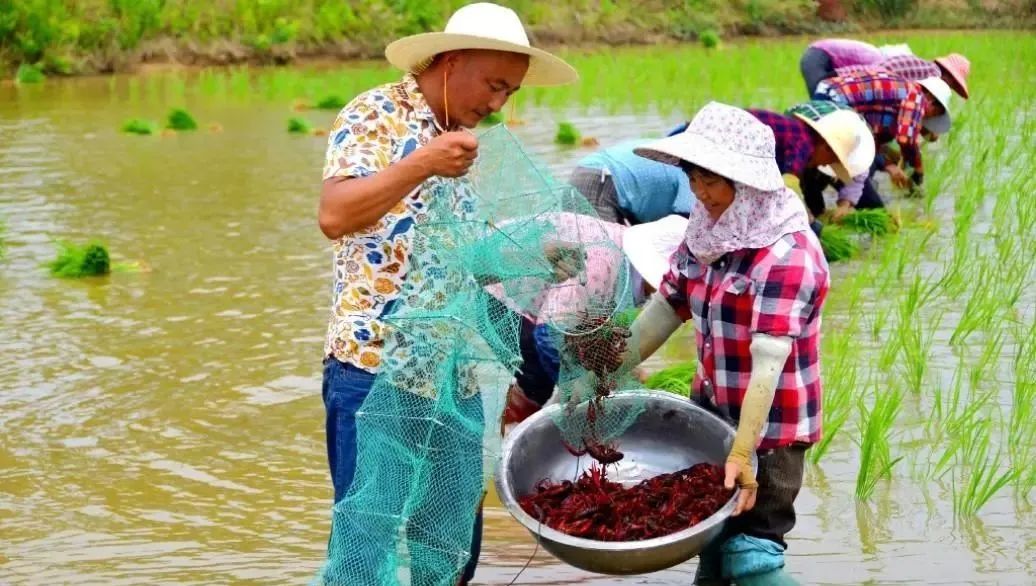
[[[584,449],[566,446],[575,456],[589,453],[597,462],[576,480],[540,480],[534,493],[518,503],[540,523],[574,537],[598,541],[639,541],[662,537],[693,527],[712,517],[733,495],[723,487],[723,469],[701,463],[624,487],[607,478],[606,467],[624,458],[614,445],[601,442],[596,422],[604,399],[614,389],[613,374],[620,363],[613,356],[625,351],[624,325],[587,319],[591,335],[566,339],[569,352],[594,372],[598,386],[586,410],[589,436]],[[600,463],[600,465],[598,464]]]

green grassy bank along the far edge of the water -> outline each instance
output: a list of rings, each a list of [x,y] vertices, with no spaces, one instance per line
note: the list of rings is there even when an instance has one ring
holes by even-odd
[[[536,42],[641,45],[896,28],[1032,28],[1036,0],[500,0]],[[46,75],[380,55],[465,0],[0,0],[0,68]]]

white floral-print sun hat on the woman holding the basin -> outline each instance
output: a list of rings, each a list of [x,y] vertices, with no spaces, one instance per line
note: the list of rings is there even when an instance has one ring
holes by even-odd
[[[711,101],[683,133],[633,152],[668,165],[686,160],[737,183],[773,192],[784,186],[774,149],[770,126],[740,108]]]

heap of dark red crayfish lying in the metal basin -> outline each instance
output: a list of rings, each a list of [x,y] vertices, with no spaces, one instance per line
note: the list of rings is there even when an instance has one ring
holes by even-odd
[[[518,499],[544,525],[597,541],[640,541],[682,531],[712,517],[733,495],[723,469],[701,463],[625,488],[592,465],[575,482],[541,480]]]

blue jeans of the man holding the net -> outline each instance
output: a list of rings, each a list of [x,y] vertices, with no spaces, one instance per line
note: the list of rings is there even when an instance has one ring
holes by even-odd
[[[340,501],[349,491],[356,471],[356,411],[367,399],[374,384],[375,376],[352,364],[335,358],[324,361],[323,402],[326,411],[325,433],[327,439],[327,464],[330,468],[332,484],[335,486],[335,502]],[[481,413],[481,399],[476,397]],[[481,470],[479,474],[481,474]],[[416,516],[416,515],[415,515]],[[408,528],[409,532],[409,528]],[[471,532],[471,558],[464,567],[464,584],[474,577],[482,549],[482,508],[474,519]],[[411,568],[413,584],[420,584],[418,568]]]

